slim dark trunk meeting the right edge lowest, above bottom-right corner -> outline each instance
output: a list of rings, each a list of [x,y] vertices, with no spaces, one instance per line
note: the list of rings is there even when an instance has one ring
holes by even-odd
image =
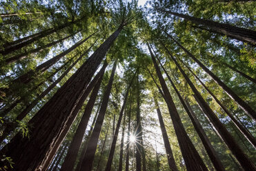
[[[181,61],[182,63],[184,63],[183,61]],[[184,66],[186,66],[186,64],[184,63]],[[228,117],[230,117],[231,121],[233,121],[233,123],[235,124],[235,126],[237,127],[237,129],[244,135],[244,137],[246,137],[246,139],[248,139],[248,141],[254,146],[254,148],[256,148],[256,139],[253,137],[252,134],[250,134],[250,132],[248,132],[248,130],[246,130],[246,128],[244,128],[243,125],[241,125],[239,123],[239,121],[237,121],[237,119],[235,119],[235,117],[233,117],[233,114],[231,114],[231,112],[221,103],[221,101],[219,101],[219,99],[217,99],[217,97],[215,96],[215,94],[213,94],[213,92],[211,92],[206,85],[201,81],[201,79],[199,79],[199,77],[197,77],[197,75],[190,70],[190,68],[188,66],[186,66],[186,68],[188,68],[188,70],[194,75],[194,77],[201,83],[202,86],[204,86],[204,88],[207,90],[207,92],[213,97],[213,99],[215,99],[215,101],[219,104],[219,106],[221,107],[222,110],[224,110],[224,112],[226,112],[226,114],[228,115]]]

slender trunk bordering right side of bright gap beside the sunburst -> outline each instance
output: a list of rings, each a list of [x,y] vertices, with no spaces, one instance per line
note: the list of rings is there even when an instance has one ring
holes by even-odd
[[[155,101],[155,108],[157,108],[157,116],[158,116],[159,123],[160,123],[161,134],[164,139],[164,147],[166,148],[166,156],[167,156],[169,168],[170,168],[170,170],[177,171],[178,169],[175,164],[175,159],[173,157],[173,150],[170,148],[170,142],[168,139],[168,134],[166,132],[166,126],[164,125],[164,120],[163,120],[163,117],[161,116],[161,111],[160,111],[157,99],[155,97],[154,97],[154,101]],[[158,165],[158,163],[157,163],[157,165]]]

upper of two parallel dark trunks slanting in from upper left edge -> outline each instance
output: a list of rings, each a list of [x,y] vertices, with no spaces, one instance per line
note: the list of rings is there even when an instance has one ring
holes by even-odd
[[[79,21],[79,20],[77,20],[77,21]],[[28,46],[31,43],[34,43],[35,41],[38,41],[39,39],[41,39],[43,37],[47,37],[48,35],[50,35],[54,32],[57,32],[58,30],[66,28],[66,27],[76,23],[77,21],[70,21],[66,24],[58,26],[57,28],[49,28],[47,30],[43,30],[41,32],[32,34],[28,37],[24,37],[22,39],[18,39],[16,41],[12,41],[10,43],[6,43],[3,45],[4,50],[1,50],[0,54],[3,54],[3,55],[10,54],[11,52],[13,52],[15,50],[19,50],[25,46]]]

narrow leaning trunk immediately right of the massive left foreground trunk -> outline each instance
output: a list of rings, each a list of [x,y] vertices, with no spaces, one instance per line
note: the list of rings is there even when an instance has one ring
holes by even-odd
[[[50,152],[49,152],[50,154],[48,154],[48,156],[45,157],[45,159],[43,160],[43,162],[42,162],[43,168],[47,168],[49,161],[52,160],[52,157],[55,155],[55,152],[57,152],[59,145],[62,143],[62,141],[65,139],[66,135],[68,134],[68,131],[70,130],[73,121],[75,121],[75,118],[77,117],[77,114],[78,114],[79,110],[81,109],[84,101],[90,94],[92,88],[95,87],[95,84],[97,83],[97,80],[99,79],[99,77],[101,77],[101,75],[104,74],[107,64],[108,63],[106,63],[106,61],[105,61],[104,66],[95,75],[95,77],[92,79],[92,81],[90,81],[90,84],[86,88],[85,92],[83,92],[83,95],[82,95],[81,99],[79,100],[79,102],[77,103],[75,110],[72,111],[72,114],[71,114],[72,117],[70,117],[70,119],[68,119],[68,122],[66,123],[66,127],[64,128],[63,132],[61,132],[61,135],[59,136],[59,138],[57,138],[56,143],[53,145],[54,148],[52,148],[52,150],[50,150]]]

